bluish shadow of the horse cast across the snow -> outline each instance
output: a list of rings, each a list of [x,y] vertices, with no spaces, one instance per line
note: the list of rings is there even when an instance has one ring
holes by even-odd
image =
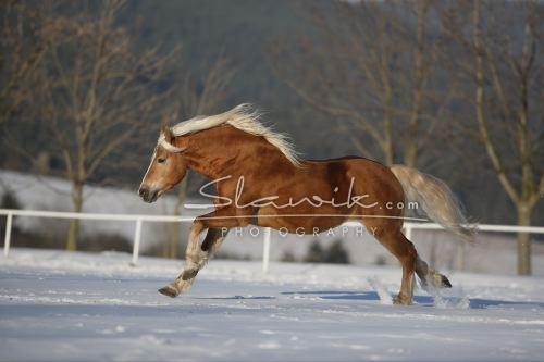
[[[326,300],[370,300],[379,301],[380,296],[375,291],[350,291],[350,290],[304,290],[304,291],[284,291],[282,295],[293,296],[293,295],[312,295],[320,299]],[[459,301],[459,298],[453,297],[442,297],[446,301]],[[434,298],[431,296],[413,296],[413,301],[418,304],[424,307],[433,307]],[[469,298],[470,309],[485,309],[490,307],[522,307],[522,308],[541,308],[544,309],[544,303],[532,302],[532,301],[509,301],[509,300],[494,300],[494,299],[481,299],[481,298]]]

